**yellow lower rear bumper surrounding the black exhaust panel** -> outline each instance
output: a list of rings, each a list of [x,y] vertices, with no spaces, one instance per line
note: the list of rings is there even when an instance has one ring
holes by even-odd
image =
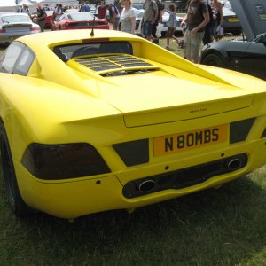
[[[203,180],[200,184],[192,184],[176,189],[165,189],[139,195],[135,198],[127,198],[123,194],[125,184],[123,180],[134,180],[136,176],[152,176],[153,173],[167,173],[171,170],[185,168],[186,165],[193,166],[195,161],[205,163],[207,161],[221,158],[222,151],[210,151],[205,155],[196,155],[185,160],[179,159],[169,161],[168,168],[165,164],[157,164],[126,169],[112,175],[89,178],[83,177],[77,180],[43,182],[30,176],[25,168],[19,167],[20,192],[27,205],[41,210],[50,215],[61,218],[75,218],[100,211],[112,209],[130,209],[143,207],[163,200],[169,200],[184,196],[192,192],[198,192],[210,187],[215,187],[243,176],[255,168],[262,167],[266,161],[265,139],[246,145],[236,145],[234,148],[223,150],[223,156],[233,156],[238,153],[246,153],[246,165],[243,168],[233,170],[218,176],[212,176]],[[162,170],[163,169],[163,170]],[[177,177],[178,178],[178,177]]]

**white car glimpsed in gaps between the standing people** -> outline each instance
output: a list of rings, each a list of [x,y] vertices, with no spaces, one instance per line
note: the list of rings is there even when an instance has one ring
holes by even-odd
[[[142,24],[142,17],[144,10],[143,9],[135,9],[136,13],[136,28],[135,28],[135,34],[136,35],[142,35],[141,34],[141,24]],[[169,20],[170,12],[164,11],[162,14],[162,30],[161,30],[161,35],[165,36],[167,31],[168,31],[168,20]],[[183,20],[182,17],[176,16],[177,20],[177,26],[176,26],[176,32],[175,35],[183,35],[183,28],[180,27],[180,23]]]

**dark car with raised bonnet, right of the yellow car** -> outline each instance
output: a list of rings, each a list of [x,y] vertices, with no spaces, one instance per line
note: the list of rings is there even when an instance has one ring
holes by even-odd
[[[243,1],[243,2],[242,2]],[[244,38],[207,44],[200,63],[225,67],[266,80],[265,1],[231,1],[245,33]]]

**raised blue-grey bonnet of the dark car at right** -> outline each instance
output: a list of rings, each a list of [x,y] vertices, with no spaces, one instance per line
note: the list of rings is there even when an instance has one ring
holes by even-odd
[[[265,0],[231,0],[230,3],[239,17],[247,41],[266,32]]]

